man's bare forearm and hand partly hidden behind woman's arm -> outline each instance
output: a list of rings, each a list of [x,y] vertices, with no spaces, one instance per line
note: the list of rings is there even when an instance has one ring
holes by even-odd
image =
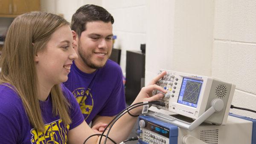
[[[92,121],[92,129],[96,133],[102,133],[102,131],[105,129],[105,127],[110,123],[110,121],[115,116],[101,116],[96,115],[96,117]]]

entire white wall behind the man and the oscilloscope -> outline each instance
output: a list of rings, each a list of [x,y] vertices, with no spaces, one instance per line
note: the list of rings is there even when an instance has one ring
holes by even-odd
[[[256,110],[255,0],[45,0],[42,8],[71,20],[87,3],[114,16],[123,72],[126,50],[146,43],[146,84],[158,69],[212,76],[236,84],[233,105]]]

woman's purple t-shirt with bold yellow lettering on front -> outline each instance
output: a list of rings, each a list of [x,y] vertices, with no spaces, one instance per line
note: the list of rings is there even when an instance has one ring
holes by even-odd
[[[69,130],[84,121],[76,99],[62,86],[67,100],[70,102],[70,118],[72,123],[64,125],[59,116],[52,114],[52,100],[40,101],[44,118],[44,132],[35,130],[29,123],[22,101],[17,93],[0,84],[0,143],[1,144],[64,144],[67,142]],[[56,142],[54,142],[56,141]]]

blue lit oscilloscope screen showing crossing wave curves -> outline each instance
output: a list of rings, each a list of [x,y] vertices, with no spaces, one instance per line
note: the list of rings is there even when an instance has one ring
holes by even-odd
[[[203,81],[183,78],[177,103],[197,107]]]

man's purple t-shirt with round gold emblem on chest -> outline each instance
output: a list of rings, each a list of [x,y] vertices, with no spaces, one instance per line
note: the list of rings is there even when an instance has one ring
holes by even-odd
[[[73,63],[64,85],[73,93],[89,124],[96,115],[114,116],[125,109],[120,66],[108,60],[104,67],[87,74]]]

